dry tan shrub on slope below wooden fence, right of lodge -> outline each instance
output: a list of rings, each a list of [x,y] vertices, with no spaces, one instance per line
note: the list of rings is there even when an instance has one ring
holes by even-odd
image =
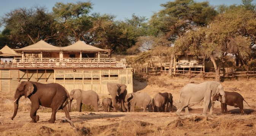
[[[167,87],[172,85],[171,82],[168,82],[170,78],[168,76],[151,76],[148,78],[148,85],[157,85],[159,87]]]

